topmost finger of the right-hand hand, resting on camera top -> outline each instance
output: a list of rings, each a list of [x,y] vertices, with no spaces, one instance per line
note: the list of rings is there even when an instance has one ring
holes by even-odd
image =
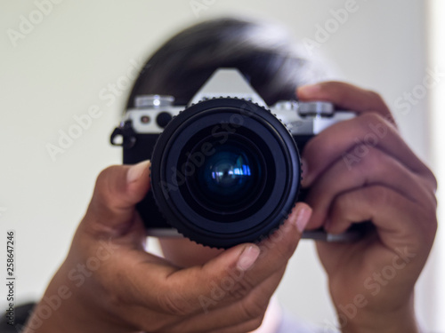
[[[302,101],[326,100],[334,103],[336,107],[358,113],[376,112],[394,123],[391,112],[380,95],[349,83],[325,82],[305,85],[299,87],[296,93]]]

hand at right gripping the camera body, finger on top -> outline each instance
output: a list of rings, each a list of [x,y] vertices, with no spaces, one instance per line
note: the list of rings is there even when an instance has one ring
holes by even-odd
[[[359,114],[322,131],[303,150],[303,186],[311,187],[313,209],[307,228],[339,234],[365,220],[376,227],[359,242],[317,243],[342,329],[417,331],[414,285],[437,227],[433,173],[401,139],[375,92],[329,82],[297,94]]]

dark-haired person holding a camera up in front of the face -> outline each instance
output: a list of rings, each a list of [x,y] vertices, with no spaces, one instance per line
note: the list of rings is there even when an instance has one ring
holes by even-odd
[[[277,28],[221,19],[188,28],[155,52],[128,107],[135,96],[154,93],[185,105],[218,67],[239,68],[268,105],[327,100],[358,113],[304,148],[303,186],[310,190],[281,226],[283,238],[274,246],[264,240],[229,250],[160,239],[165,258],[153,256],[144,250],[145,230],[134,209],[150,189],[150,162],[109,167],[24,331],[303,331],[276,308],[267,310],[303,230],[323,226],[338,234],[370,220],[375,231],[360,242],[317,243],[334,305],[356,310],[349,318],[336,308],[339,326],[417,332],[414,285],[436,231],[436,181],[401,139],[384,101],[347,83],[315,83],[320,67]],[[219,288],[228,281],[230,288]]]

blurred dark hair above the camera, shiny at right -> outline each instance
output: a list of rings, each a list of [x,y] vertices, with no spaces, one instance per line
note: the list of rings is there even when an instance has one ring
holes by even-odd
[[[238,68],[268,105],[295,99],[295,88],[324,71],[284,29],[252,20],[217,19],[182,30],[154,52],[134,83],[127,107],[143,94],[172,95],[185,105],[218,67]]]

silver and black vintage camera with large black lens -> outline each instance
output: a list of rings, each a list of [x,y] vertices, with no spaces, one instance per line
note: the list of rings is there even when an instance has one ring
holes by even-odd
[[[355,116],[322,101],[268,107],[232,68],[215,71],[187,107],[159,95],[134,104],[110,140],[123,147],[125,164],[151,160],[151,189],[137,205],[148,234],[183,234],[217,248],[258,242],[279,228],[303,199],[299,152]],[[348,241],[360,233],[303,236]]]

